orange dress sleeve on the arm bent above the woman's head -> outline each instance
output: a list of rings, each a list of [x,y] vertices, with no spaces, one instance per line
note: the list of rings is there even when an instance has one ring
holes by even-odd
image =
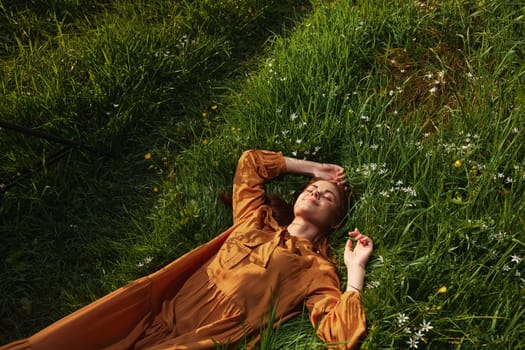
[[[233,221],[249,216],[264,204],[263,184],[286,171],[282,153],[249,150],[239,158],[233,180]]]

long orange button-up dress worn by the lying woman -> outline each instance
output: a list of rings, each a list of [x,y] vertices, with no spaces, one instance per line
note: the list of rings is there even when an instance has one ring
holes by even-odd
[[[264,205],[264,182],[286,171],[281,153],[239,159],[231,228],[138,279],[0,350],[215,349],[245,341],[306,305],[317,335],[355,348],[365,332],[361,297],[342,293],[333,264],[290,236]]]

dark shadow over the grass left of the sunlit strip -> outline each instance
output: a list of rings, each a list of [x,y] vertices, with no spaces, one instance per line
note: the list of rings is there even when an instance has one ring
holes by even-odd
[[[193,51],[173,57],[156,48],[162,42],[151,44],[147,33],[113,31],[112,19],[124,21],[124,15],[117,14],[122,9],[115,5],[119,3],[102,10],[93,8],[93,13],[85,4],[84,9],[65,8],[56,1],[47,7],[31,2],[23,8],[3,9],[2,16],[11,24],[2,29],[3,60],[13,64],[13,55],[35,43],[47,46],[49,52],[40,53],[34,61],[29,56],[16,58],[27,64],[27,76],[6,82],[18,89],[6,97],[2,118],[66,138],[81,138],[110,150],[116,158],[75,151],[6,193],[0,203],[0,289],[4,291],[0,343],[29,336],[138,277],[136,257],[126,253],[141,233],[153,229],[147,216],[157,200],[155,185],[165,176],[163,165],[155,163],[162,160],[148,161],[144,154],[165,144],[166,135],[171,140],[170,151],[179,152],[190,147],[205,128],[213,127],[218,121],[210,118],[203,124],[200,117],[212,101],[220,99],[215,88],[233,84],[253,68],[267,40],[291,28],[309,10],[307,3],[263,1],[258,2],[260,8],[239,9],[231,1],[188,2],[188,7],[171,13],[189,16],[183,23],[189,34],[172,43],[173,49],[190,45],[192,38],[211,38],[217,52],[222,51],[212,55],[209,47],[194,42]],[[130,4],[120,6],[134,10]],[[160,4],[150,6],[159,6],[159,16],[166,10]],[[24,30],[24,25],[15,26],[13,18],[31,31]],[[135,20],[130,15],[130,21]],[[161,21],[160,17],[140,19],[149,21],[144,28],[155,20]],[[166,20],[163,23],[166,26]],[[79,54],[80,73],[68,75],[56,61],[63,54],[58,43],[65,34],[78,45],[74,40],[82,28],[106,39],[94,41],[100,46]],[[158,30],[165,29],[160,26]],[[149,51],[143,50],[148,44]],[[128,50],[127,55],[121,56],[122,50]],[[148,56],[151,53],[161,55],[161,61]],[[199,54],[205,55],[199,59]],[[69,56],[63,57],[67,61]],[[169,62],[181,57],[185,61]],[[109,67],[112,60],[114,66]],[[30,84],[33,77],[42,78],[51,71],[49,64],[61,71],[54,80],[50,78],[60,84],[51,97],[49,91],[41,91],[43,86],[32,91]],[[175,77],[172,70],[177,65],[183,71]],[[45,85],[44,78],[41,81]],[[0,145],[9,155],[0,159],[2,181],[58,147],[7,130],[0,132]]]

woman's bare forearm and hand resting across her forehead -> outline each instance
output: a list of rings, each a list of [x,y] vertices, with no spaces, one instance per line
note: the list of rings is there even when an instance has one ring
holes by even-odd
[[[339,184],[345,182],[345,170],[335,164],[318,163],[291,157],[284,157],[286,171],[292,174],[306,175]]]

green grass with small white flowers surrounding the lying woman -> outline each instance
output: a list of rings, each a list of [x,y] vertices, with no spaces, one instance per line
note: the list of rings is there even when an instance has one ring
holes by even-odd
[[[0,341],[224,230],[215,194],[266,148],[347,169],[358,200],[333,249],[356,226],[376,246],[363,349],[525,348],[522,5],[36,3],[0,6],[1,120],[116,157],[75,151],[7,192]],[[57,149],[0,133],[4,178]],[[306,314],[261,341],[316,347]]]

